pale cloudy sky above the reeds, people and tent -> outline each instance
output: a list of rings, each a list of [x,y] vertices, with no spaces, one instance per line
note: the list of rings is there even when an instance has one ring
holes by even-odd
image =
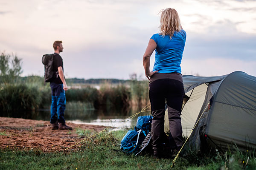
[[[256,76],[254,0],[0,0],[0,51],[22,59],[22,76],[43,76],[42,56],[62,40],[66,78],[145,79],[143,54],[169,7],[187,33],[183,75]]]

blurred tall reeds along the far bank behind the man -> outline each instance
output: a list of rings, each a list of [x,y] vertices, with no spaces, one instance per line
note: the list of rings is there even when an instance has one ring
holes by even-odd
[[[83,85],[83,88],[70,88],[66,92],[66,99],[67,103],[72,102],[68,108],[76,107],[75,102],[79,102],[79,106],[82,103],[83,109],[88,109],[88,106],[91,107],[89,109],[101,108],[106,111],[143,108],[149,102],[148,82],[132,79],[129,85],[113,85],[105,81],[99,90]],[[43,77],[20,77],[16,83],[0,84],[2,111],[35,110],[49,108],[50,105],[51,88],[49,83],[44,85]]]

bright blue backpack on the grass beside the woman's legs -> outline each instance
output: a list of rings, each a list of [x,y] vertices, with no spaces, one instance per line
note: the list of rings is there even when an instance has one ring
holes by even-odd
[[[137,153],[140,145],[151,131],[152,116],[140,116],[134,130],[128,130],[121,141],[121,150],[126,153]]]

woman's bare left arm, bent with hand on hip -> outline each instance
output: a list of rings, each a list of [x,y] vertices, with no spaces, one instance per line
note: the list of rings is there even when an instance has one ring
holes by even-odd
[[[157,43],[153,39],[150,39],[148,42],[148,46],[146,48],[145,54],[143,55],[143,66],[145,69],[145,75],[148,78],[148,80],[153,74],[158,72],[158,71],[154,71],[154,72],[149,71],[150,57],[156,48],[157,48]]]

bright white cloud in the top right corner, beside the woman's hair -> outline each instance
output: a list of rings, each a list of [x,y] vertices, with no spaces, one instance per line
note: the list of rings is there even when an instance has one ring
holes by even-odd
[[[204,32],[205,29],[215,23],[230,20],[237,23],[236,29],[239,32],[256,34],[255,20],[256,1],[239,2],[226,0],[225,4],[220,1],[192,0],[186,1],[184,7],[179,6],[183,28],[195,32]]]

